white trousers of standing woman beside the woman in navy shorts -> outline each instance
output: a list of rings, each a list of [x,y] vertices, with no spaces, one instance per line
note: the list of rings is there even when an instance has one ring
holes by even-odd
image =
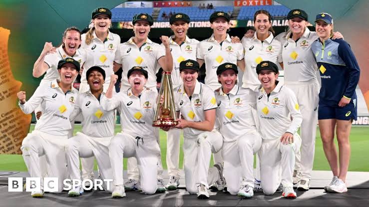
[[[286,86],[294,91],[303,115],[301,151],[296,153],[295,170],[301,172],[302,178],[311,179],[318,124],[319,82],[316,79],[310,82],[288,82]]]

